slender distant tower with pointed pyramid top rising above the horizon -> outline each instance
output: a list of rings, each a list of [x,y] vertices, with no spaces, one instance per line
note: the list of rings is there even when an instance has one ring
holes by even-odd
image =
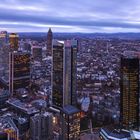
[[[51,28],[49,28],[48,34],[47,34],[47,54],[52,54],[52,39],[53,39],[53,33]]]

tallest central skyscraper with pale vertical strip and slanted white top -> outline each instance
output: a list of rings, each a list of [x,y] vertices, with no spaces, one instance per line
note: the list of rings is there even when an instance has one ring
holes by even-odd
[[[76,105],[77,41],[53,42],[52,101],[57,108]]]

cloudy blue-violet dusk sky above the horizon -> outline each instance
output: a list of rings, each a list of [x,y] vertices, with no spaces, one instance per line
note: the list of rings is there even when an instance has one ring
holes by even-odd
[[[0,0],[0,30],[140,32],[140,0]]]

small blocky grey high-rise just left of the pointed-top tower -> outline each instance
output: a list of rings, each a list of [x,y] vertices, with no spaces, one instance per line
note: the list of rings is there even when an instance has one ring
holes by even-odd
[[[32,56],[35,61],[42,61],[42,48],[39,46],[32,47]]]

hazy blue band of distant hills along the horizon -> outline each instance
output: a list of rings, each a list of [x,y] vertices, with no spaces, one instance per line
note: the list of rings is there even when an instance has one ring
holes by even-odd
[[[42,32],[26,32],[19,33],[20,38],[31,39],[45,39],[47,33]],[[140,39],[140,33],[53,33],[53,37],[57,39],[71,39],[71,38],[119,38],[119,39]]]

